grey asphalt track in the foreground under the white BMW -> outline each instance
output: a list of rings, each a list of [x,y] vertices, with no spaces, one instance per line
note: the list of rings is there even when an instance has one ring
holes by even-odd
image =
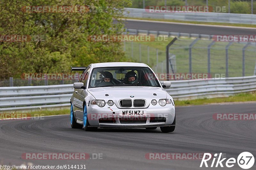
[[[146,153],[225,153],[235,158],[241,152],[256,156],[256,123],[214,120],[214,113],[255,113],[256,103],[204,105],[176,108],[176,129],[71,129],[69,116],[44,120],[1,120],[2,165],[85,165],[86,169],[239,169],[200,168],[201,160],[149,160]],[[22,153],[102,153],[103,159],[26,160]],[[227,159],[226,159],[227,160]],[[209,164],[211,164],[210,162]],[[225,162],[224,162],[225,163]],[[210,165],[209,165],[210,166]],[[256,169],[256,163],[250,169]]]

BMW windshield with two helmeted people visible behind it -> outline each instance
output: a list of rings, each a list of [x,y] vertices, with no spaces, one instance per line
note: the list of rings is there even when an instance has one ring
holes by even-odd
[[[92,70],[89,88],[127,85],[161,87],[148,67],[98,67]]]

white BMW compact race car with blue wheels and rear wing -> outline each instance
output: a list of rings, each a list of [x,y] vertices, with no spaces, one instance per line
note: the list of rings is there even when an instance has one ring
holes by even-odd
[[[171,82],[162,85],[147,64],[95,63],[72,70],[84,71],[70,99],[72,128],[174,131],[174,101],[164,90]]]

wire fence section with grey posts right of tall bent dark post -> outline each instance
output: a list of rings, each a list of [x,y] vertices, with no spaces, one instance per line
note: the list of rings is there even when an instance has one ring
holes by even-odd
[[[255,75],[255,43],[178,39],[170,51],[176,55],[178,72],[225,74],[225,77]]]

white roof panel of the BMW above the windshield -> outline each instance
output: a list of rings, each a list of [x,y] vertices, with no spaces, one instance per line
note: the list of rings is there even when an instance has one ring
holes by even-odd
[[[110,62],[110,63],[94,63],[94,67],[148,67],[144,63],[129,62]]]

